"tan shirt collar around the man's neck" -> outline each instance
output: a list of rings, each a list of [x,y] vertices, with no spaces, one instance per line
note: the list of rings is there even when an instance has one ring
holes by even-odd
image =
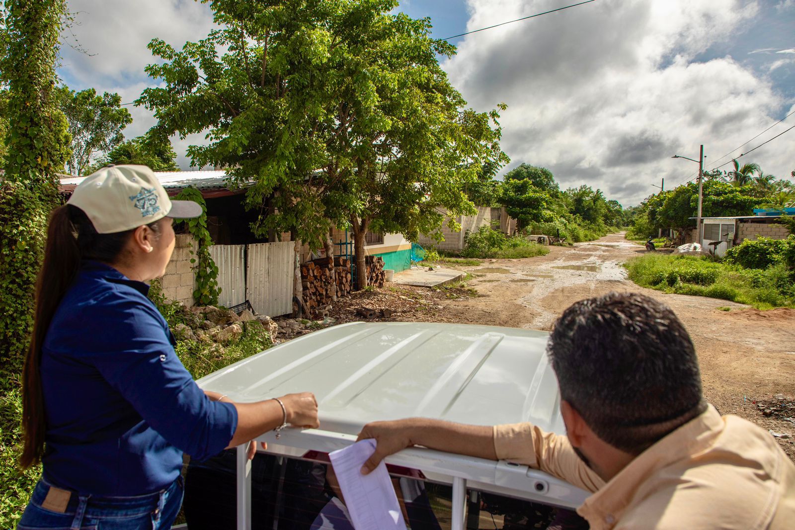
[[[706,411],[634,458],[599,491],[588,497],[577,512],[591,525],[599,521],[595,528],[602,528],[604,524],[612,528],[633,500],[634,493],[653,473],[706,450],[721,431],[723,419],[715,407],[708,405]]]

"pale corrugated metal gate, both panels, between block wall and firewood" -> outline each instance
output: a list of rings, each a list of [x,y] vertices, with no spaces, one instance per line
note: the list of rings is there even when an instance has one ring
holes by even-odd
[[[294,247],[289,241],[211,246],[221,288],[218,303],[231,307],[248,300],[259,314],[292,313]]]

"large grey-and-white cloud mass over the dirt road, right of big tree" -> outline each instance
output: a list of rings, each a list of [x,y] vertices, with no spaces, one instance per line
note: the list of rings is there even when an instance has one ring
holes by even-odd
[[[467,29],[554,3],[469,0]],[[468,36],[444,68],[479,110],[508,104],[502,145],[511,167],[547,166],[564,186],[588,184],[637,204],[661,177],[668,188],[696,173],[673,154],[698,158],[704,143],[712,167],[777,120],[785,101],[769,80],[731,57],[695,62],[737,37],[758,9],[736,0],[594,2]],[[770,146],[752,161],[789,175],[793,143]]]

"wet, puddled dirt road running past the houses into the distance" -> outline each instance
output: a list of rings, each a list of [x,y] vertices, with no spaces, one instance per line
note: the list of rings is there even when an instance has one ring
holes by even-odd
[[[766,418],[754,404],[777,394],[795,399],[795,310],[760,312],[725,300],[637,286],[626,279],[621,264],[644,251],[623,234],[613,234],[572,248],[550,247],[549,255],[542,257],[460,267],[475,275],[469,285],[477,289],[477,296],[442,302],[442,309],[425,312],[422,318],[551,329],[557,316],[577,300],[611,290],[649,294],[671,306],[691,334],[707,399],[723,414],[789,433],[792,438],[779,442],[795,459],[795,423]],[[795,415],[795,408],[792,411]]]

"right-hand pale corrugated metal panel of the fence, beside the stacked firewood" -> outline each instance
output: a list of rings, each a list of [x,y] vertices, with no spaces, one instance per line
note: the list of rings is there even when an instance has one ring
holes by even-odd
[[[295,244],[248,246],[247,298],[254,310],[272,317],[293,312]]]

